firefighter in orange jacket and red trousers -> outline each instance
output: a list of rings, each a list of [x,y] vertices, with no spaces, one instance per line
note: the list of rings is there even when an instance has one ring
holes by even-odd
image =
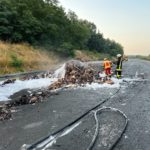
[[[108,58],[104,58],[103,67],[104,67],[105,74],[111,77],[112,62]]]

